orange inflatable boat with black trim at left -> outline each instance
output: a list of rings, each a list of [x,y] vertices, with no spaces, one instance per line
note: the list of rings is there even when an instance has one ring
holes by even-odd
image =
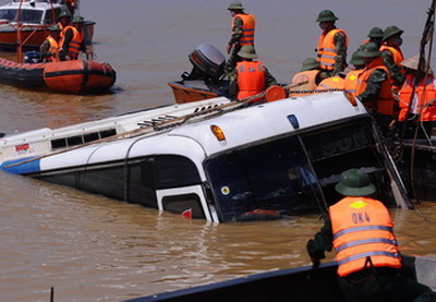
[[[41,88],[65,94],[107,90],[117,72],[108,63],[73,60],[47,63],[17,63],[0,59],[0,83]]]

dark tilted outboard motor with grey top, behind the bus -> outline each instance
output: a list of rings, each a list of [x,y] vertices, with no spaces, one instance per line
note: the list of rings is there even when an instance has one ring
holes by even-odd
[[[226,57],[214,46],[202,44],[189,56],[193,69],[184,72],[184,80],[218,80],[225,70]]]

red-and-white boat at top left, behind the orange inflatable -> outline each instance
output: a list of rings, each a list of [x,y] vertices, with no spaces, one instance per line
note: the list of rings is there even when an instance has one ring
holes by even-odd
[[[57,22],[62,11],[68,11],[61,0],[11,0],[0,7],[0,48],[16,50],[21,44],[25,50],[39,49],[49,35],[48,27]],[[20,11],[20,23],[17,22]],[[53,19],[55,16],[55,19]],[[20,26],[19,26],[20,25]],[[94,36],[95,22],[85,21],[84,41],[90,45]],[[21,28],[19,41],[17,28]]]

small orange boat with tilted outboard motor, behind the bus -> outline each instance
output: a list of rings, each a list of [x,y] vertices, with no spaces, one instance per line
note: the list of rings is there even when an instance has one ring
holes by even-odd
[[[193,64],[192,71],[184,72],[181,81],[168,83],[177,104],[230,97],[229,81],[222,78],[226,57],[218,49],[202,44],[189,55],[189,59]]]

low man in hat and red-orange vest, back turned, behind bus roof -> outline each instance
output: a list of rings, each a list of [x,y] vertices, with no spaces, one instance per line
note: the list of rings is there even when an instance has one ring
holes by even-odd
[[[277,85],[276,78],[257,59],[256,51],[251,45],[245,45],[238,52],[242,61],[237,63],[237,68],[230,74],[229,92],[237,99],[244,99],[265,92],[271,85]],[[263,97],[252,100],[258,101]]]

